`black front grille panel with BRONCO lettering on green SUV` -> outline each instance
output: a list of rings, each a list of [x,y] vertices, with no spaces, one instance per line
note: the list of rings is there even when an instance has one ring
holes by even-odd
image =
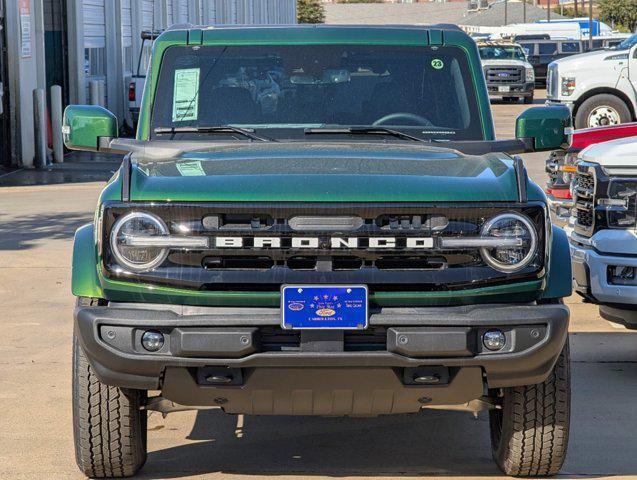
[[[214,242],[205,249],[171,251],[164,264],[148,272],[122,271],[109,252],[108,237],[117,219],[132,209],[161,217],[172,233],[187,231]],[[442,247],[447,238],[479,236],[486,220],[512,210],[527,215],[539,237],[536,259],[519,272],[507,275],[491,268],[476,247]],[[108,278],[207,291],[278,292],[281,285],[299,283],[364,284],[372,293],[475,288],[543,274],[544,215],[540,203],[113,203],[103,215],[102,268]],[[220,248],[221,237],[245,244]],[[280,245],[254,248],[264,237],[276,238]],[[316,243],[291,246],[308,237]],[[333,248],[335,237],[340,248]],[[395,244],[391,248],[371,246],[388,238]],[[427,245],[418,248],[423,241]]]

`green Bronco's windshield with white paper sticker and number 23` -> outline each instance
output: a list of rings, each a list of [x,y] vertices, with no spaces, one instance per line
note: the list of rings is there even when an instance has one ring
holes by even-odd
[[[151,131],[233,125],[282,138],[376,125],[481,140],[471,79],[456,47],[174,46],[162,60]]]

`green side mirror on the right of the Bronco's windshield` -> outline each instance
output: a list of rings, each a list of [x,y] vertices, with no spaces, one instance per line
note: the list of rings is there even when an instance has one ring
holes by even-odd
[[[568,146],[571,111],[563,105],[531,107],[517,118],[515,137],[528,146],[529,151],[558,150]]]

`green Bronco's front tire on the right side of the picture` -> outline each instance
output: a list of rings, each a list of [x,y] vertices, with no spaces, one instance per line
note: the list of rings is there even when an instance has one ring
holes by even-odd
[[[504,389],[502,408],[489,412],[491,449],[507,475],[555,475],[566,457],[571,408],[568,340],[542,383]]]

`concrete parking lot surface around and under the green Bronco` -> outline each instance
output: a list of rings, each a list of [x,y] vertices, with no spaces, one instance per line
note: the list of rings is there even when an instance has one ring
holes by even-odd
[[[513,135],[524,108],[493,106],[500,138]],[[541,184],[544,158],[524,157]],[[103,174],[110,167],[98,168]],[[52,185],[27,185],[32,175],[24,172],[0,177],[0,479],[83,478],[71,422],[71,248],[103,182],[55,175]],[[637,478],[637,333],[602,320],[577,297],[568,304],[573,416],[561,477]],[[500,475],[490,458],[486,414],[244,418],[208,410],[164,419],[153,413],[148,441],[139,478]]]

